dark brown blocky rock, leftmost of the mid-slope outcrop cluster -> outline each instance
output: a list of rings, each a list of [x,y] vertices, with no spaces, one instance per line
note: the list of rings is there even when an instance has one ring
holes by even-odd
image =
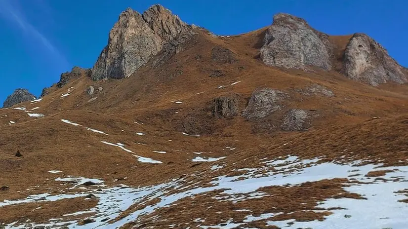
[[[221,96],[214,99],[212,115],[218,118],[231,118],[238,114],[238,95]]]

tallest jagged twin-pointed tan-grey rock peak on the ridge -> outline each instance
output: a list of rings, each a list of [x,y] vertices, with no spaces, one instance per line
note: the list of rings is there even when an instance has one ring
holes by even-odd
[[[108,45],[93,66],[91,78],[129,77],[188,30],[190,26],[161,5],[151,6],[143,15],[128,8],[110,31]]]

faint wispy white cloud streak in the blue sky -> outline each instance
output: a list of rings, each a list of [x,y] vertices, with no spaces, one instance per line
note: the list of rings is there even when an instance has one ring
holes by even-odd
[[[26,35],[36,38],[48,53],[53,56],[52,59],[54,61],[59,61],[59,64],[62,65],[68,65],[65,57],[51,41],[26,19],[22,10],[19,9],[16,0],[0,0],[0,15],[9,22],[16,24]]]

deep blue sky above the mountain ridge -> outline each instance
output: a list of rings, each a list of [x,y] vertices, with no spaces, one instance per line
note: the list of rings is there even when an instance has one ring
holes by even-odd
[[[75,65],[91,68],[122,10],[155,3],[217,35],[256,30],[286,12],[330,35],[366,33],[408,66],[406,0],[0,0],[0,101],[18,87],[38,96]]]

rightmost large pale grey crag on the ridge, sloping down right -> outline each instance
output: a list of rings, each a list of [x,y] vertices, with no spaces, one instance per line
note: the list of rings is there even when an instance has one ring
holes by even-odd
[[[365,34],[354,34],[344,53],[344,74],[377,86],[380,83],[408,81],[408,74],[380,44]]]

